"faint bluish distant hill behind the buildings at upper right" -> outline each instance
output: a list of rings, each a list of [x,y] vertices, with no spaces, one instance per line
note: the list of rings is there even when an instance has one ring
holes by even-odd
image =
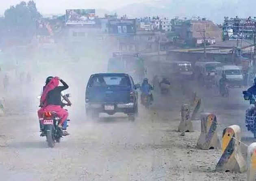
[[[206,17],[215,23],[222,23],[223,17],[256,16],[256,0],[150,0],[123,6],[113,12],[128,17],[166,16],[166,17]]]

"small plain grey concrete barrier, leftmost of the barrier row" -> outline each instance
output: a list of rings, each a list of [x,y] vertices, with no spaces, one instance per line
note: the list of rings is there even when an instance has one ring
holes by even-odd
[[[178,132],[193,132],[193,126],[190,119],[190,106],[183,104],[181,106],[181,121],[178,126]]]

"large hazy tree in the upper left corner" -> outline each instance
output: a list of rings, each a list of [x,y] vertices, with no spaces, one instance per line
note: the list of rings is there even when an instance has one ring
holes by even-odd
[[[33,0],[30,0],[28,4],[22,1],[4,12],[6,30],[11,36],[26,38],[34,36],[36,20],[41,19],[41,17]]]

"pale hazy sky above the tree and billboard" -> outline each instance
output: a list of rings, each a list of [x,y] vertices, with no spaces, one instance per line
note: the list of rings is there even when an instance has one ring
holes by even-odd
[[[0,0],[0,14],[10,5],[22,0]],[[24,0],[28,2],[28,0]],[[65,9],[106,9],[114,10],[126,4],[143,2],[146,0],[34,0],[37,9],[43,14],[65,13]],[[97,13],[97,12],[96,12]]]

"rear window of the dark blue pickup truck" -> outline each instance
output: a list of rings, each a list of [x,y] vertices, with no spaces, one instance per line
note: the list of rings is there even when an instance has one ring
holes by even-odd
[[[93,87],[104,87],[104,86],[125,86],[130,87],[130,79],[128,76],[114,76],[114,75],[102,75],[92,77],[90,85]]]

